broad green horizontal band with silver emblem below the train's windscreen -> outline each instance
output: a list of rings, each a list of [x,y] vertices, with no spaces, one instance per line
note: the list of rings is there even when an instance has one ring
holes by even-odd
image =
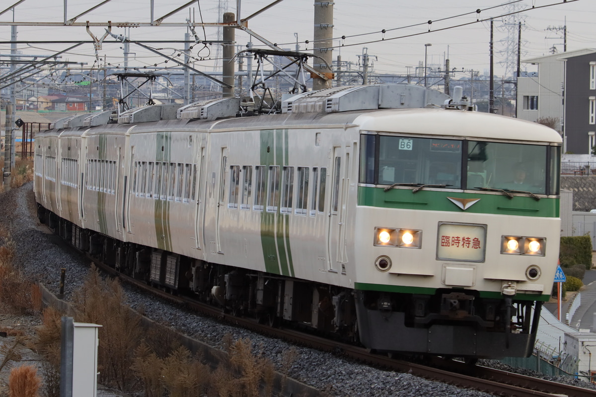
[[[399,208],[404,210],[464,212],[448,199],[480,199],[465,212],[472,214],[518,215],[524,217],[555,218],[559,216],[559,200],[514,196],[504,194],[437,192],[436,190],[391,189],[383,187],[358,187],[358,205],[381,208]]]

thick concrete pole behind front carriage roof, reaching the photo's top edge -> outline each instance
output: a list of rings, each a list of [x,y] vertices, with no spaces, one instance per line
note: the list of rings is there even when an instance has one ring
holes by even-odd
[[[333,2],[321,2],[315,0],[315,30],[313,39],[313,54],[323,58],[331,67],[333,62]],[[325,73],[329,80],[319,79],[313,75],[312,89],[321,90],[331,88],[331,78],[333,70],[327,68],[327,65],[318,58],[314,58],[313,67],[319,73]]]

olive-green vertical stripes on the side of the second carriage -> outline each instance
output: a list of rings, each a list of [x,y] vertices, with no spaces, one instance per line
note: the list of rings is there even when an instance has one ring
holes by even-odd
[[[162,149],[163,148],[163,149]],[[156,162],[163,162],[162,167],[167,167],[169,170],[169,162],[172,155],[172,133],[165,132],[157,134],[156,136]],[[155,170],[157,172],[157,170]],[[175,172],[176,170],[174,170]],[[160,190],[163,191],[163,185],[169,182],[165,176],[168,175],[166,170],[162,169],[162,186]],[[173,176],[170,176],[173,178]],[[157,239],[157,248],[164,251],[172,251],[172,233],[170,230],[170,202],[167,201],[168,189],[166,185],[166,199],[154,199],[154,218],[155,218],[155,232]],[[161,192],[160,192],[161,194]]]

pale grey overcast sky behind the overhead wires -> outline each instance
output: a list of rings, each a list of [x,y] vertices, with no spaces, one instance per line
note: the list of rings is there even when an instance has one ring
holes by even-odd
[[[17,0],[2,0],[0,11]],[[63,21],[63,0],[26,0],[16,7],[14,13],[15,21]],[[101,2],[101,0],[70,0],[67,8],[68,17],[71,18],[80,12],[88,10]],[[154,17],[159,17],[167,12],[175,10],[185,4],[186,0],[154,0]],[[241,17],[246,17],[254,11],[270,4],[272,0],[243,0],[241,3]],[[548,4],[563,3],[563,0],[521,0],[507,1],[513,2],[519,8],[536,8]],[[72,4],[71,4],[72,3]],[[236,1],[228,0],[222,3],[228,4],[228,11],[235,12]],[[334,45],[344,46],[340,49],[334,49],[334,59],[341,53],[343,61],[358,62],[358,54],[362,54],[363,48],[368,48],[369,55],[375,55],[377,60],[374,62],[374,71],[382,73],[405,74],[408,70],[414,73],[414,68],[418,62],[424,62],[424,43],[432,43],[428,49],[429,65],[443,65],[443,60],[449,53],[451,67],[464,68],[465,70],[483,71],[489,68],[489,23],[482,22],[470,24],[464,27],[455,27],[453,29],[434,32],[434,30],[446,27],[457,26],[476,20],[476,10],[504,4],[503,0],[417,0],[417,1],[396,1],[396,0],[377,0],[365,4],[363,1],[356,0],[336,0],[334,6],[334,37],[352,36],[364,33],[374,33],[359,37],[346,37],[345,40],[337,39]],[[113,0],[103,5],[97,10],[80,18],[78,22],[89,21],[150,21],[150,0]],[[187,9],[178,12],[178,14],[167,18],[166,21],[180,22],[185,18],[191,18],[200,21],[200,14],[203,21],[216,21],[218,11],[217,0],[201,0],[200,11],[195,3]],[[506,48],[502,40],[507,39],[507,30],[503,18],[496,18],[499,15],[511,11],[510,7],[496,7],[492,10],[486,10],[480,13],[480,18],[495,17],[495,62],[503,61]],[[259,35],[272,42],[283,44],[284,48],[294,49],[297,33],[299,46],[301,50],[306,49],[305,40],[312,40],[313,36],[313,1],[312,0],[285,0],[275,5],[270,10],[253,18],[249,23],[249,28]],[[472,12],[471,15],[464,15],[458,18],[438,21],[442,18],[454,17],[455,15]],[[567,23],[567,49],[596,48],[596,1],[578,0],[567,2],[565,4],[553,5],[538,10],[527,10],[520,14],[524,29],[522,33],[522,58],[532,58],[539,55],[547,55],[552,46],[558,51],[563,51],[562,32],[547,31],[549,26],[563,26]],[[0,15],[0,21],[12,21],[13,12],[8,11]],[[435,21],[430,27],[430,33],[427,32],[426,21]],[[421,26],[408,29],[390,30],[412,24]],[[385,40],[382,42],[364,43],[383,38],[381,29],[386,29]],[[101,36],[104,29],[93,27],[92,33]],[[112,32],[124,33],[123,28],[114,27]],[[131,29],[131,39],[183,39],[186,29],[184,27],[147,27]],[[216,39],[216,30],[206,28],[207,39]],[[414,35],[391,40],[396,36]],[[203,37],[201,28],[197,29],[199,37]],[[514,37],[517,41],[517,32]],[[18,40],[76,40],[89,39],[84,27],[18,27]],[[10,40],[10,27],[0,26],[0,40]],[[237,30],[236,40],[238,45],[246,45],[249,36],[244,32]],[[258,44],[258,40],[253,39],[253,43]],[[352,45],[353,44],[353,45]],[[23,54],[47,54],[49,51],[59,51],[67,48],[68,45],[32,45],[34,48],[26,45],[19,45]],[[121,44],[104,44],[100,55],[107,55],[107,62],[111,64],[122,64]],[[167,44],[154,44],[155,47],[172,47]],[[175,45],[176,48],[182,48],[181,44]],[[194,55],[197,55],[197,49],[193,49]],[[0,54],[6,53],[10,45],[0,44]],[[312,43],[308,44],[308,49],[312,49]],[[47,51],[46,51],[47,50]],[[135,60],[131,61],[132,66],[142,67],[143,65],[153,65],[156,60],[153,54],[145,49],[131,45],[131,52],[134,52]],[[175,49],[164,49],[163,52],[173,54]],[[215,46],[212,46],[210,55],[215,57]],[[209,51],[203,50],[198,53],[199,56],[208,57]],[[80,46],[64,55],[72,61],[84,61],[89,66],[94,64],[95,51],[91,44]],[[166,66],[166,64],[162,64]],[[167,64],[167,66],[172,63]],[[213,61],[196,62],[195,67],[199,70],[212,70]],[[529,70],[533,70],[529,67]],[[495,73],[502,75],[505,69],[501,64],[495,64]]]

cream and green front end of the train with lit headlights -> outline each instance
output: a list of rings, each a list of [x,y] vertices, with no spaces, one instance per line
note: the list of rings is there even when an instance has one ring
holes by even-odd
[[[361,342],[387,352],[529,356],[557,268],[558,133],[443,109],[359,122]]]

